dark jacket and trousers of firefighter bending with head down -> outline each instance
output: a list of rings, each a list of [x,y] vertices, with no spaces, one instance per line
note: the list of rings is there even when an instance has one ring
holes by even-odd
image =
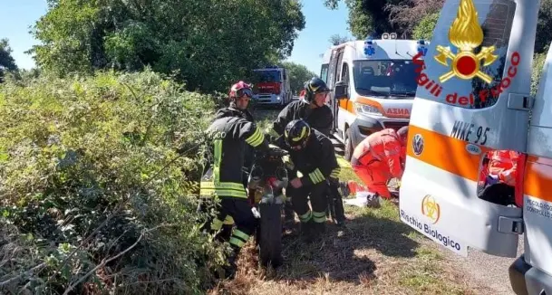
[[[281,138],[276,145],[286,148],[283,141]],[[303,186],[294,188],[290,185],[286,188],[286,193],[291,195],[295,213],[299,216],[301,224],[306,225],[306,232],[310,229],[307,224],[314,224],[315,229],[323,231],[327,208],[326,180],[332,175],[334,169],[339,167],[332,141],[313,128],[310,136],[306,139],[305,147],[299,150],[291,148],[289,154],[295,165],[293,175],[296,175],[297,170],[301,172]],[[312,210],[309,208],[307,200],[309,194]]]

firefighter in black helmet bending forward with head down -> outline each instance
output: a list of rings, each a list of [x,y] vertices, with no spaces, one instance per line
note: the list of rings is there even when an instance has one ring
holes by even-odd
[[[303,176],[290,180],[286,193],[293,198],[293,208],[301,221],[301,233],[312,241],[318,233],[324,233],[327,207],[327,178],[338,167],[332,141],[310,126],[303,119],[295,119],[286,125],[284,138],[276,145],[289,150],[294,171]],[[308,205],[308,196],[312,210]]]

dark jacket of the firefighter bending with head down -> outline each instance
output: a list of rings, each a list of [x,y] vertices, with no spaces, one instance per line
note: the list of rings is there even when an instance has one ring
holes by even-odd
[[[278,138],[276,146],[287,149],[284,140],[284,137]],[[317,185],[326,181],[328,177],[337,177],[339,174],[332,141],[316,129],[312,129],[305,147],[300,150],[288,150],[295,165],[293,172],[296,174],[296,171],[300,171],[303,175],[303,186]],[[290,179],[292,178],[294,177],[290,176]]]

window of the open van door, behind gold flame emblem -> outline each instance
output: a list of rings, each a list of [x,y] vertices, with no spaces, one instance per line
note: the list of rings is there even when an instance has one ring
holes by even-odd
[[[473,33],[459,32],[454,43],[449,40],[450,28],[454,28],[450,25],[464,24],[461,21],[453,23],[457,18],[458,6],[454,5],[455,8],[449,10],[443,7],[441,17],[444,20],[442,20],[442,24],[450,25],[438,26],[433,33],[431,46],[438,46],[438,51],[435,56],[424,58],[426,69],[417,77],[419,87],[416,96],[466,109],[488,108],[497,102],[499,85],[503,78],[505,80],[516,79],[515,74],[510,76],[508,68],[505,69],[507,61],[516,59],[512,53],[507,56],[516,3],[512,0],[495,0],[492,3],[476,1],[474,6],[475,11],[468,9],[468,14],[477,12],[479,15],[478,23],[483,32],[482,40],[470,40],[470,36],[472,36],[471,39],[474,39]],[[470,15],[466,17],[470,17]],[[477,27],[466,29],[467,32],[474,32],[474,30],[477,32]],[[455,71],[452,71],[453,58],[460,52],[457,46],[460,43],[470,44],[472,48],[470,52],[476,55],[480,54],[478,74],[468,80],[460,79],[455,75]],[[490,46],[494,46],[494,51],[489,50]],[[450,52],[444,52],[447,47],[450,48]],[[484,49],[489,52],[485,53]],[[493,55],[496,56],[496,60],[493,60]],[[465,74],[476,72],[473,70],[477,70],[477,63],[472,62],[469,54],[464,56],[466,57],[459,59],[463,62],[463,66],[458,67],[457,71],[464,71]],[[441,60],[447,65],[437,62],[437,60]],[[491,63],[485,66],[485,62]],[[518,62],[518,59],[515,62]],[[502,82],[502,85],[506,85],[504,81]],[[502,91],[504,90],[506,89],[502,87]]]

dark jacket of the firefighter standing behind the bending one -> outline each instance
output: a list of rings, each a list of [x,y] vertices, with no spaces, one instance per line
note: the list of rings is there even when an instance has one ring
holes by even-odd
[[[305,100],[292,101],[280,111],[273,123],[272,128],[276,131],[277,136],[282,135],[287,123],[294,119],[304,119],[311,128],[315,128],[326,137],[329,137],[333,127],[334,115],[332,109],[327,105],[312,109],[310,103]]]

